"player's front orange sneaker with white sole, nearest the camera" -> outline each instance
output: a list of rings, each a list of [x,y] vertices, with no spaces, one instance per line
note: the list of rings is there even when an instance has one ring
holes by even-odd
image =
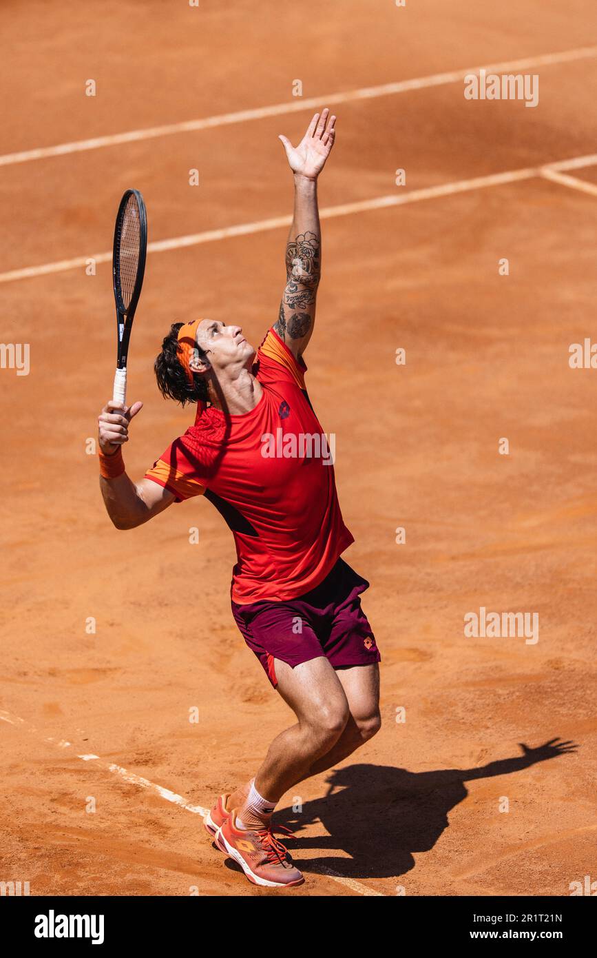
[[[236,810],[228,812],[224,824],[215,834],[215,844],[237,861],[254,885],[286,888],[301,885],[304,878],[292,863],[284,845],[272,832],[272,827],[238,829],[234,822]],[[284,829],[288,832],[288,829]]]

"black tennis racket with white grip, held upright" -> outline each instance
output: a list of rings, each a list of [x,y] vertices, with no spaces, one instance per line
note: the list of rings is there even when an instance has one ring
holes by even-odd
[[[118,360],[114,376],[115,402],[126,401],[126,355],[135,309],[139,302],[147,252],[147,214],[139,190],[127,190],[122,196],[114,229],[112,273],[116,322],[118,328]]]

